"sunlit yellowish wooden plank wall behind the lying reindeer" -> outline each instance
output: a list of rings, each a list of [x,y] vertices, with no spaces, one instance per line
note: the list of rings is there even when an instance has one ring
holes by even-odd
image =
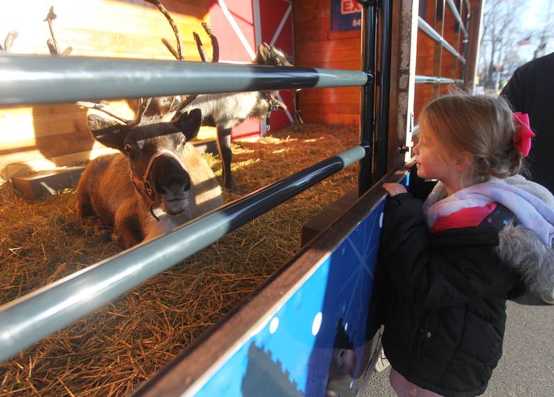
[[[181,33],[185,58],[199,60],[192,32],[197,31],[211,54],[202,29],[209,23],[209,0],[162,0]],[[175,35],[157,8],[143,0],[18,0],[0,14],[0,39],[15,29],[19,37],[12,53],[48,54],[50,38],[44,21],[50,6],[60,50],[73,48],[70,56],[174,59],[161,43],[164,37],[176,48]],[[87,99],[87,98],[83,98]],[[132,118],[127,102],[111,107]],[[109,149],[95,142],[87,129],[87,110],[73,104],[0,108],[0,178],[29,170],[51,169],[88,160]],[[0,179],[1,183],[2,179]]]

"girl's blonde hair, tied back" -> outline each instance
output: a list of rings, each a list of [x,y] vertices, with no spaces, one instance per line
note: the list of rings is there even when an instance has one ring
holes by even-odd
[[[521,151],[512,140],[513,117],[503,97],[451,93],[425,105],[420,131],[445,160],[463,151],[472,154],[474,161],[467,172],[479,183],[519,172]]]

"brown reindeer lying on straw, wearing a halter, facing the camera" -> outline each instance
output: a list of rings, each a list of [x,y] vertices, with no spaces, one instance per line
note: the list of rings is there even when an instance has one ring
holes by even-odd
[[[80,218],[98,217],[114,228],[114,241],[129,248],[223,205],[215,175],[187,142],[201,120],[198,109],[175,122],[154,117],[130,125],[89,115],[94,138],[120,153],[100,156],[84,170],[77,187]]]

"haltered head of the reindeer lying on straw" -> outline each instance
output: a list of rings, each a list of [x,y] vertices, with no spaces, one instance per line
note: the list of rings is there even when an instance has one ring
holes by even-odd
[[[127,156],[136,190],[175,215],[185,210],[191,187],[184,145],[197,135],[201,121],[199,109],[184,113],[175,122],[148,118],[134,126],[90,115],[89,128],[100,143]]]

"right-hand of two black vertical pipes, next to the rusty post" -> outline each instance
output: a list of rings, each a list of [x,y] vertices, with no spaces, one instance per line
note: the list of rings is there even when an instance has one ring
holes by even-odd
[[[377,118],[377,133],[373,147],[373,178],[380,179],[386,174],[388,154],[388,113],[391,96],[391,14],[392,1],[382,0],[379,3],[379,28],[381,48],[379,49],[379,104]]]

